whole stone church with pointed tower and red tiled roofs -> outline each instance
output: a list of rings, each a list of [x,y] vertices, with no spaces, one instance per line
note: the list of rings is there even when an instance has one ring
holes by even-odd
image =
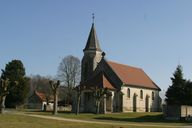
[[[85,89],[81,93],[80,112],[96,112],[96,100],[91,89],[96,86],[106,88],[111,93],[101,100],[101,113],[160,110],[159,92],[161,89],[141,68],[106,60],[94,23],[83,52],[79,86],[85,86]],[[73,102],[73,111],[77,107],[76,101]]]

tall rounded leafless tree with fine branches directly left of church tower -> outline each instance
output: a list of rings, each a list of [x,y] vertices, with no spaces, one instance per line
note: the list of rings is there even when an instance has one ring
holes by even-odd
[[[58,79],[67,87],[67,101],[70,103],[72,89],[80,81],[80,60],[72,55],[62,59],[58,67]]]

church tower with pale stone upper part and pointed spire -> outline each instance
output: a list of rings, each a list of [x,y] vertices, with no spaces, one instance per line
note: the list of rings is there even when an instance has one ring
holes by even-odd
[[[87,44],[83,49],[84,56],[81,62],[81,82],[86,81],[92,76],[97,64],[101,61],[102,50],[99,46],[99,40],[97,38],[94,23],[89,33]]]

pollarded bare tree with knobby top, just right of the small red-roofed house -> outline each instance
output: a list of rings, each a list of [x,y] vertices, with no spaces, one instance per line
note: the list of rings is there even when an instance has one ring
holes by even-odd
[[[57,104],[58,104],[58,88],[60,85],[60,81],[58,80],[57,82],[55,81],[49,81],[49,84],[51,85],[51,89],[53,91],[54,95],[54,105],[53,105],[53,115],[57,114]]]

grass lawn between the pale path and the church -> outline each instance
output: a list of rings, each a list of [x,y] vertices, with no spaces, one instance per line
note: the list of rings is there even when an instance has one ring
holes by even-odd
[[[51,112],[30,112],[30,114],[40,114],[40,115],[51,115]],[[74,113],[59,113],[58,117],[71,118],[71,119],[81,119],[81,120],[93,120],[93,121],[104,121],[104,122],[121,122],[121,123],[139,123],[139,124],[150,124],[167,126],[186,126],[191,125],[192,122],[185,121],[167,121],[163,118],[162,113],[112,113],[112,114],[79,114]],[[123,126],[125,127],[125,126]]]

